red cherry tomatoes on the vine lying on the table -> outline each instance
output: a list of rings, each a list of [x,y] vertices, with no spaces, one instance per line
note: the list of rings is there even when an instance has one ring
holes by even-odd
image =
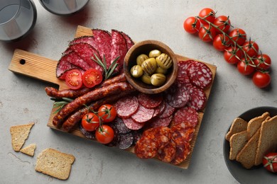
[[[260,51],[256,42],[246,40],[246,33],[241,28],[231,25],[229,16],[215,16],[211,8],[203,8],[198,16],[187,18],[183,27],[188,33],[198,33],[204,42],[212,42],[216,50],[224,52],[224,59],[229,64],[237,64],[238,71],[243,75],[252,76],[259,88],[270,84],[271,76],[268,69],[271,58]],[[230,28],[234,28],[229,31]],[[254,72],[256,70],[256,72]]]

